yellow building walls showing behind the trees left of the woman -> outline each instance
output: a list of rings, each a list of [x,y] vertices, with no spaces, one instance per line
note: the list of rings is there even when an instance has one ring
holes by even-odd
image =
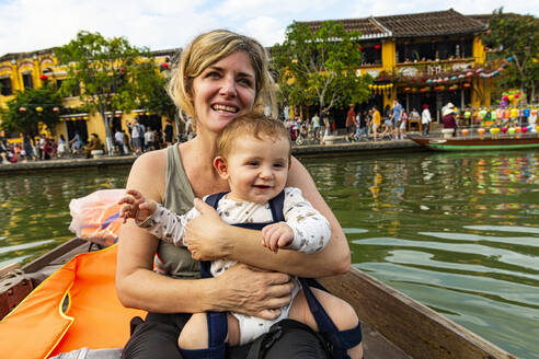
[[[14,97],[16,91],[25,89],[37,89],[44,81],[53,81],[60,88],[68,72],[58,63],[54,48],[36,50],[32,53],[7,54],[0,57],[0,108],[7,108],[7,103]],[[169,68],[169,59],[177,54],[179,49],[152,51],[157,66],[161,69]],[[71,96],[62,100],[64,108],[59,111],[60,123],[55,129],[42,128],[43,132],[55,134],[56,139],[64,135],[71,139],[74,132],[81,134],[87,139],[89,134],[95,132],[104,142],[105,127],[98,113],[90,114],[81,112],[82,102],[79,97],[80,90],[74,91]],[[156,130],[162,130],[165,118],[149,113],[146,109],[135,109],[131,113],[108,113],[112,134],[117,129],[128,132],[127,124],[137,117],[139,123]],[[1,119],[0,119],[1,120]],[[7,137],[18,137],[18,134],[5,134]]]

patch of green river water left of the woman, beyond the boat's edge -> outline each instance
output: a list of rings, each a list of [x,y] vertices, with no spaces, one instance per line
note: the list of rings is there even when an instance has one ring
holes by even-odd
[[[0,176],[0,267],[28,262],[73,235],[69,201],[98,189],[123,188],[128,167]]]

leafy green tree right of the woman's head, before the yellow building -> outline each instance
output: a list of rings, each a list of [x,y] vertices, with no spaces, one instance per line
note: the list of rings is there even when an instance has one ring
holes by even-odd
[[[317,31],[293,23],[283,45],[273,48],[280,95],[291,104],[318,103],[331,108],[368,99],[370,77],[358,77],[359,32],[347,33],[340,22],[323,22]]]

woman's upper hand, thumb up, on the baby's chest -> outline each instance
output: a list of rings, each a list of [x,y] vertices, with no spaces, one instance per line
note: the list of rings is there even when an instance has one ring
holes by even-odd
[[[223,236],[226,224],[217,211],[203,201],[195,198],[195,208],[200,216],[188,221],[185,227],[184,243],[196,260],[214,260],[228,256],[231,246]]]

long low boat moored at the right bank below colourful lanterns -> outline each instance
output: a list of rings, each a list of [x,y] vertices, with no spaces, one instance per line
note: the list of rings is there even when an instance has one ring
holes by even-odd
[[[418,136],[410,135],[409,138],[414,142],[435,151],[498,151],[498,150],[525,150],[539,148],[539,134],[526,132],[526,134],[503,134],[497,129],[496,134],[477,134],[477,129],[466,130],[467,134],[462,135],[463,130],[458,131],[458,136],[452,137],[450,131],[441,130],[441,136],[429,135]]]

